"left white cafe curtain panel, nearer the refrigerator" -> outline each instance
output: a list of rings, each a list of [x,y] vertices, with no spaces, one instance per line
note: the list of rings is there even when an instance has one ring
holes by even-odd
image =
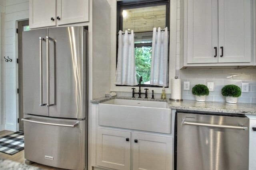
[[[118,55],[116,68],[117,85],[138,85],[136,79],[135,56],[134,56],[134,33],[125,33],[120,30],[118,35]]]

